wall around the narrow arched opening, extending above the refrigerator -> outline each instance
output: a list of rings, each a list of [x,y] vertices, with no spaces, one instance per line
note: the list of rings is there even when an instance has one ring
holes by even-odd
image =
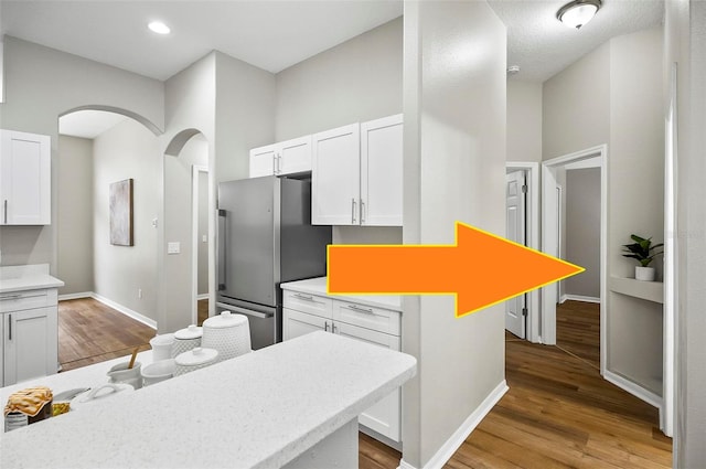
[[[275,134],[275,76],[268,72],[213,52],[165,83],[167,131],[162,148],[195,129],[208,142],[208,206],[215,213],[216,185],[220,181],[240,179],[248,173],[248,151],[261,141],[274,141]],[[170,150],[171,151],[171,150]],[[173,152],[179,154],[179,149]],[[183,190],[180,178],[167,164],[174,162],[164,157],[164,242],[191,239],[191,215],[174,203]],[[172,168],[173,169],[173,168]],[[172,179],[172,175],[175,178]],[[191,205],[189,205],[191,206]],[[186,220],[186,215],[189,220]],[[210,220],[208,231],[215,234],[215,220]],[[185,227],[189,226],[189,230]],[[189,326],[191,321],[191,248],[180,255],[167,255],[167,246],[160,249],[162,266],[162,301],[160,302],[160,332],[171,332]],[[214,243],[208,246],[210,270],[215,271]],[[189,254],[186,256],[186,254]],[[215,294],[215,279],[211,279],[210,294]],[[210,302],[212,312],[214,301]]]

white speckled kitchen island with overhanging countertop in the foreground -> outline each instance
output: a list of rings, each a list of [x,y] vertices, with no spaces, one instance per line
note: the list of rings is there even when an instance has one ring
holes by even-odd
[[[410,355],[314,332],[3,434],[0,466],[356,468],[357,415],[415,372]]]

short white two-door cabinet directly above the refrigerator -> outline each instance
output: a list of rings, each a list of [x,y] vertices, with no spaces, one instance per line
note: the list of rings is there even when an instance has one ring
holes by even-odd
[[[311,171],[311,136],[250,150],[250,178]]]

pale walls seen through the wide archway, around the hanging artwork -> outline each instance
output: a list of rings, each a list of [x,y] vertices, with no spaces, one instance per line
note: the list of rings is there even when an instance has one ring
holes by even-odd
[[[93,297],[152,328],[158,311],[159,130],[125,109],[58,116],[57,275],[62,299]],[[110,186],[132,181],[132,245],[110,242]]]

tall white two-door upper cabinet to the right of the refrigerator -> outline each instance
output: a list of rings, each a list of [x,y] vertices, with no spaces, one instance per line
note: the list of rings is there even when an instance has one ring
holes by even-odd
[[[403,116],[312,137],[311,221],[402,226]]]

